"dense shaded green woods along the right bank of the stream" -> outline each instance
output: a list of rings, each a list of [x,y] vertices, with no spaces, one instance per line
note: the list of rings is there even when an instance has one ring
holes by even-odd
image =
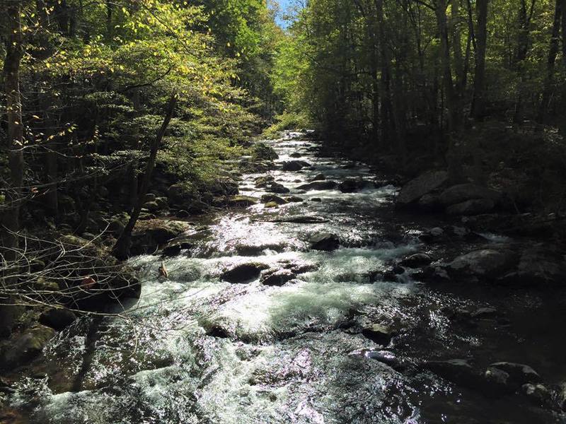
[[[519,134],[564,131],[564,16],[562,0],[313,0],[275,88],[337,143],[404,165],[440,158],[462,179],[470,155],[506,160],[531,152]]]

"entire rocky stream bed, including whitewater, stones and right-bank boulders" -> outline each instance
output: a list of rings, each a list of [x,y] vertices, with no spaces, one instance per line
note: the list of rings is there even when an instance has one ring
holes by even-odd
[[[487,225],[498,193],[266,145],[228,211],[131,260],[129,312],[7,373],[6,422],[566,422],[560,246]]]

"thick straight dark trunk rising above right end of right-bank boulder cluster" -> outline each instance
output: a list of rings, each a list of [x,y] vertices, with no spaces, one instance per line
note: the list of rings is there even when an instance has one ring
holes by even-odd
[[[475,72],[473,81],[472,114],[474,119],[485,117],[485,49],[487,47],[487,3],[488,0],[476,0],[478,28],[475,31]]]

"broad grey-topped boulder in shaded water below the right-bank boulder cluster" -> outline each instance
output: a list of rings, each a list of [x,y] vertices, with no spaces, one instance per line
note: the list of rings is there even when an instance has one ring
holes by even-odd
[[[447,266],[456,276],[476,276],[493,280],[514,266],[516,257],[510,250],[481,249],[463,254]]]

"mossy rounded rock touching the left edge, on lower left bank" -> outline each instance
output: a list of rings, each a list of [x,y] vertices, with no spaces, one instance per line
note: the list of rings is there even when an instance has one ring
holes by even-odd
[[[25,365],[39,355],[47,342],[54,336],[54,329],[42,325],[25,331],[2,349],[0,352],[0,368],[6,370]]]

